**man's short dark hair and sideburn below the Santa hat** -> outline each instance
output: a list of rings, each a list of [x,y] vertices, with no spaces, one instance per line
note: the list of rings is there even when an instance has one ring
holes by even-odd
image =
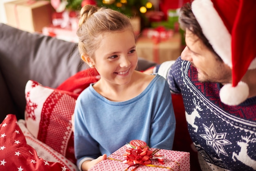
[[[199,25],[198,21],[195,18],[195,15],[191,9],[191,2],[187,2],[180,9],[180,18],[179,18],[180,27],[185,31],[189,29],[193,34],[197,35],[199,39],[202,40],[203,44],[209,48],[213,53],[215,53],[220,60],[220,56],[214,51],[213,47],[209,43],[209,40],[204,36],[202,28]]]

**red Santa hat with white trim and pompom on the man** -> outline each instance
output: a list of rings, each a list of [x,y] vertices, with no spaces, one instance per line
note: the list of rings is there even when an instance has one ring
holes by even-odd
[[[232,83],[220,89],[220,100],[239,105],[249,96],[241,79],[256,68],[256,1],[194,0],[191,8],[215,52],[232,69]]]

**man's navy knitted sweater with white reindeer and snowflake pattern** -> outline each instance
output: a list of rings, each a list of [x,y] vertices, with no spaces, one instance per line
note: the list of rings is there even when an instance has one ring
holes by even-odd
[[[256,170],[256,97],[238,106],[223,104],[220,84],[199,82],[197,70],[180,57],[167,81],[171,92],[182,93],[190,136],[207,167]]]

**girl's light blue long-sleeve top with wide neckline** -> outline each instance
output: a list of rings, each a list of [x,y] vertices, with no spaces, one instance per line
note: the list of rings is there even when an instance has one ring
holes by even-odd
[[[149,147],[172,149],[175,115],[166,80],[159,75],[138,96],[114,102],[101,96],[92,84],[76,101],[74,147],[77,165],[111,153],[130,140]]]

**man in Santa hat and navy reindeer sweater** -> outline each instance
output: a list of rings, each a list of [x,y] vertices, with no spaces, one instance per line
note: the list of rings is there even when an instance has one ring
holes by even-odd
[[[202,170],[256,170],[255,0],[194,0],[186,47],[155,72],[181,93]]]

